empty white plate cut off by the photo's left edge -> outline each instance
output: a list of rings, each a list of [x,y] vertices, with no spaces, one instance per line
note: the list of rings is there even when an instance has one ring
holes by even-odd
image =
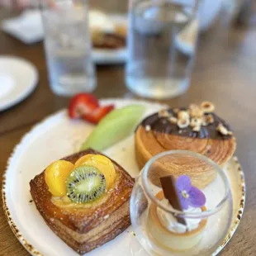
[[[0,111],[28,97],[37,82],[37,69],[26,59],[0,57]]]

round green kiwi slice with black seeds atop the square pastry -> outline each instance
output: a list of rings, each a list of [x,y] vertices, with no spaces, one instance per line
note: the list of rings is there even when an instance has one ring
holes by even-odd
[[[66,179],[67,196],[75,203],[88,203],[102,197],[106,191],[106,178],[93,166],[74,168]]]

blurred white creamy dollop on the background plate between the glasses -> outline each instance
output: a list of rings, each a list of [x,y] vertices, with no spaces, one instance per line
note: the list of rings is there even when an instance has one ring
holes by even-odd
[[[115,31],[115,24],[103,12],[90,11],[89,12],[89,28],[91,31],[100,30],[106,33],[112,33]]]

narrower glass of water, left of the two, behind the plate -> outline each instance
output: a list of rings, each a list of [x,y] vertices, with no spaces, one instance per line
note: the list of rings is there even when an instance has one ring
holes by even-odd
[[[96,87],[86,0],[41,1],[50,88],[58,95]]]

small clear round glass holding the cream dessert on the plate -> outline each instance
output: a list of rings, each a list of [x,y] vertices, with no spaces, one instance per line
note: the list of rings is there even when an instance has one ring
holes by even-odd
[[[212,175],[207,184],[203,180],[206,169],[207,173],[211,170]],[[197,184],[204,193],[205,205],[189,206],[180,211],[166,204],[164,195],[159,197],[163,193],[159,178],[167,174],[172,174],[176,181],[184,175],[190,178],[192,186]],[[184,195],[183,191],[178,192],[180,197]],[[184,193],[192,201],[192,190],[186,192],[185,189]],[[130,219],[135,236],[151,255],[213,254],[230,229],[232,211],[230,184],[223,170],[211,159],[185,150],[167,151],[150,159],[137,178],[130,199]],[[186,225],[178,223],[177,218],[185,220]]]

